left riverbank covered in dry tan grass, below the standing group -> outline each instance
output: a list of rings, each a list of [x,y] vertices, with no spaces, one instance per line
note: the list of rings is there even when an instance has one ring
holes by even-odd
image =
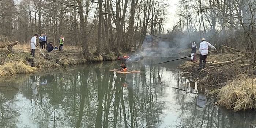
[[[37,48],[35,57],[30,55],[31,49],[28,45],[17,45],[8,52],[5,48],[0,49],[0,76],[14,75],[20,73],[31,73],[42,69],[51,69],[55,67],[67,67],[68,65],[79,65],[86,63],[95,63],[101,61],[117,60],[123,53],[102,53],[100,56],[84,57],[82,49],[75,46],[65,46],[62,51],[58,49],[47,52],[45,49]],[[94,53],[90,49],[90,53]]]

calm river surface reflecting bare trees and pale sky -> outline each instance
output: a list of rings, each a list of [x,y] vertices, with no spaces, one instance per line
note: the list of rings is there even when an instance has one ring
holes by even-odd
[[[180,76],[181,63],[119,61],[2,77],[1,128],[255,128],[256,113],[214,105],[203,86]],[[47,82],[46,82],[47,81]]]

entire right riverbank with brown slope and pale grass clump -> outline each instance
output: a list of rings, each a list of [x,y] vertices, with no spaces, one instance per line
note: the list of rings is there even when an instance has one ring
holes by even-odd
[[[206,68],[201,71],[197,71],[199,60],[195,63],[187,61],[178,68],[184,72],[182,75],[211,88],[208,94],[217,98],[217,105],[236,112],[256,110],[256,66],[252,64],[253,59],[245,53],[223,50],[222,53],[210,53]]]

